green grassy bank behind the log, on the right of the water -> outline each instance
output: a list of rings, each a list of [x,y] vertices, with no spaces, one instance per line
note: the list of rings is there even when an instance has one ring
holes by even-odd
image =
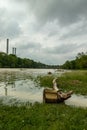
[[[39,77],[41,86],[52,88],[54,76]],[[87,71],[72,71],[57,77],[57,84],[63,91],[73,90],[76,94],[87,95]]]

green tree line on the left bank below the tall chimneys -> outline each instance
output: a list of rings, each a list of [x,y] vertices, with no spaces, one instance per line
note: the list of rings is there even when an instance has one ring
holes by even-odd
[[[28,58],[20,58],[13,54],[0,52],[0,68],[55,68]]]

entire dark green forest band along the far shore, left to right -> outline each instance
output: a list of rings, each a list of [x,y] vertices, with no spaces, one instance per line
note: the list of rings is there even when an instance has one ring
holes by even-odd
[[[78,53],[75,60],[66,61],[63,65],[46,65],[31,59],[0,52],[0,68],[87,69],[87,52]]]

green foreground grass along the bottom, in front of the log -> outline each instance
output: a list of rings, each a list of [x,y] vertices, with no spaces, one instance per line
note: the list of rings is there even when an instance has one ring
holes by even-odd
[[[0,130],[86,130],[87,109],[65,104],[0,106]]]

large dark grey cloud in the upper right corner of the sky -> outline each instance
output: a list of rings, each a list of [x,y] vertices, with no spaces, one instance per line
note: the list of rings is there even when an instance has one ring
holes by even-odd
[[[60,25],[87,19],[87,0],[29,0],[27,1],[39,22],[57,19]]]

